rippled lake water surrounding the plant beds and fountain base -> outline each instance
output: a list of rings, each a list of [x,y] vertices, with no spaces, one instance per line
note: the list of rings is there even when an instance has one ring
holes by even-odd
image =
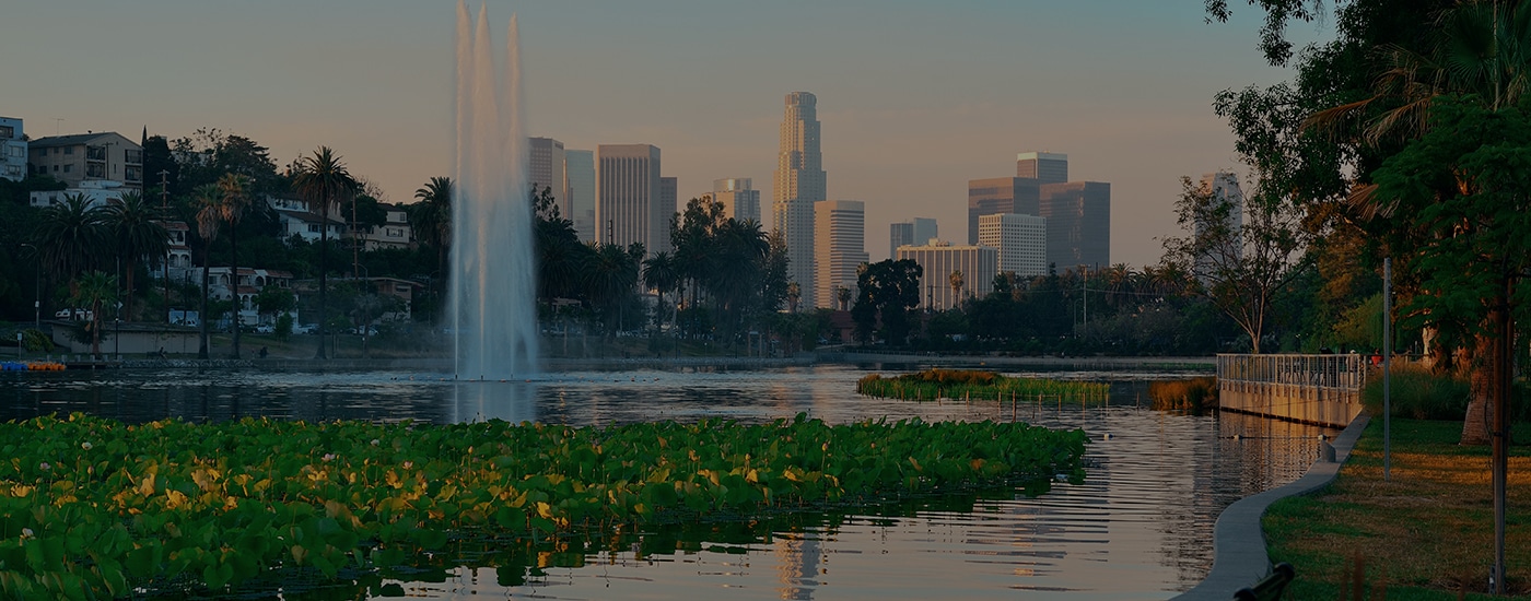
[[[854,385],[867,373],[853,365],[591,370],[514,382],[453,382],[424,372],[0,373],[0,419],[84,411],[127,422],[268,416],[589,425],[764,422],[807,413],[828,422],[1021,419],[1082,428],[1092,439],[1085,482],[1058,483],[1035,499],[1001,491],[755,526],[698,525],[573,551],[530,549],[501,563],[490,551],[488,560],[449,560],[444,570],[381,581],[409,596],[441,599],[1168,598],[1206,575],[1223,508],[1297,479],[1317,457],[1318,434],[1335,434],[1248,416],[1150,410],[1148,382],[1183,376],[1176,373],[1006,372],[1112,382],[1107,402],[1015,405],[862,398]],[[467,567],[507,561],[511,566],[501,569]],[[355,595],[337,596],[366,595],[364,586],[352,586]]]

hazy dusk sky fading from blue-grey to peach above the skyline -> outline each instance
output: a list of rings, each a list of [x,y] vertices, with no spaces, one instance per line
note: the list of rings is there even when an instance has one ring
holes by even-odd
[[[413,202],[453,173],[455,5],[23,2],[5,9],[0,115],[32,138],[216,127],[279,165],[328,145]],[[813,92],[828,197],[867,203],[874,262],[911,217],[966,242],[968,180],[1041,150],[1112,184],[1113,263],[1156,263],[1179,234],[1179,177],[1246,171],[1213,96],[1289,76],[1265,64],[1243,3],[1211,24],[1205,0],[487,5],[496,46],[519,15],[528,135],[654,144],[681,202],[753,177],[767,226],[784,96]]]

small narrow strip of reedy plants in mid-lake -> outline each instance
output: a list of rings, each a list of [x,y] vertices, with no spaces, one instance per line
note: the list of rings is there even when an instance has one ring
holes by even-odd
[[[856,393],[882,399],[905,401],[1035,401],[1105,399],[1108,384],[1064,382],[1041,378],[1006,378],[994,372],[925,370],[883,378],[873,373],[856,382]]]

